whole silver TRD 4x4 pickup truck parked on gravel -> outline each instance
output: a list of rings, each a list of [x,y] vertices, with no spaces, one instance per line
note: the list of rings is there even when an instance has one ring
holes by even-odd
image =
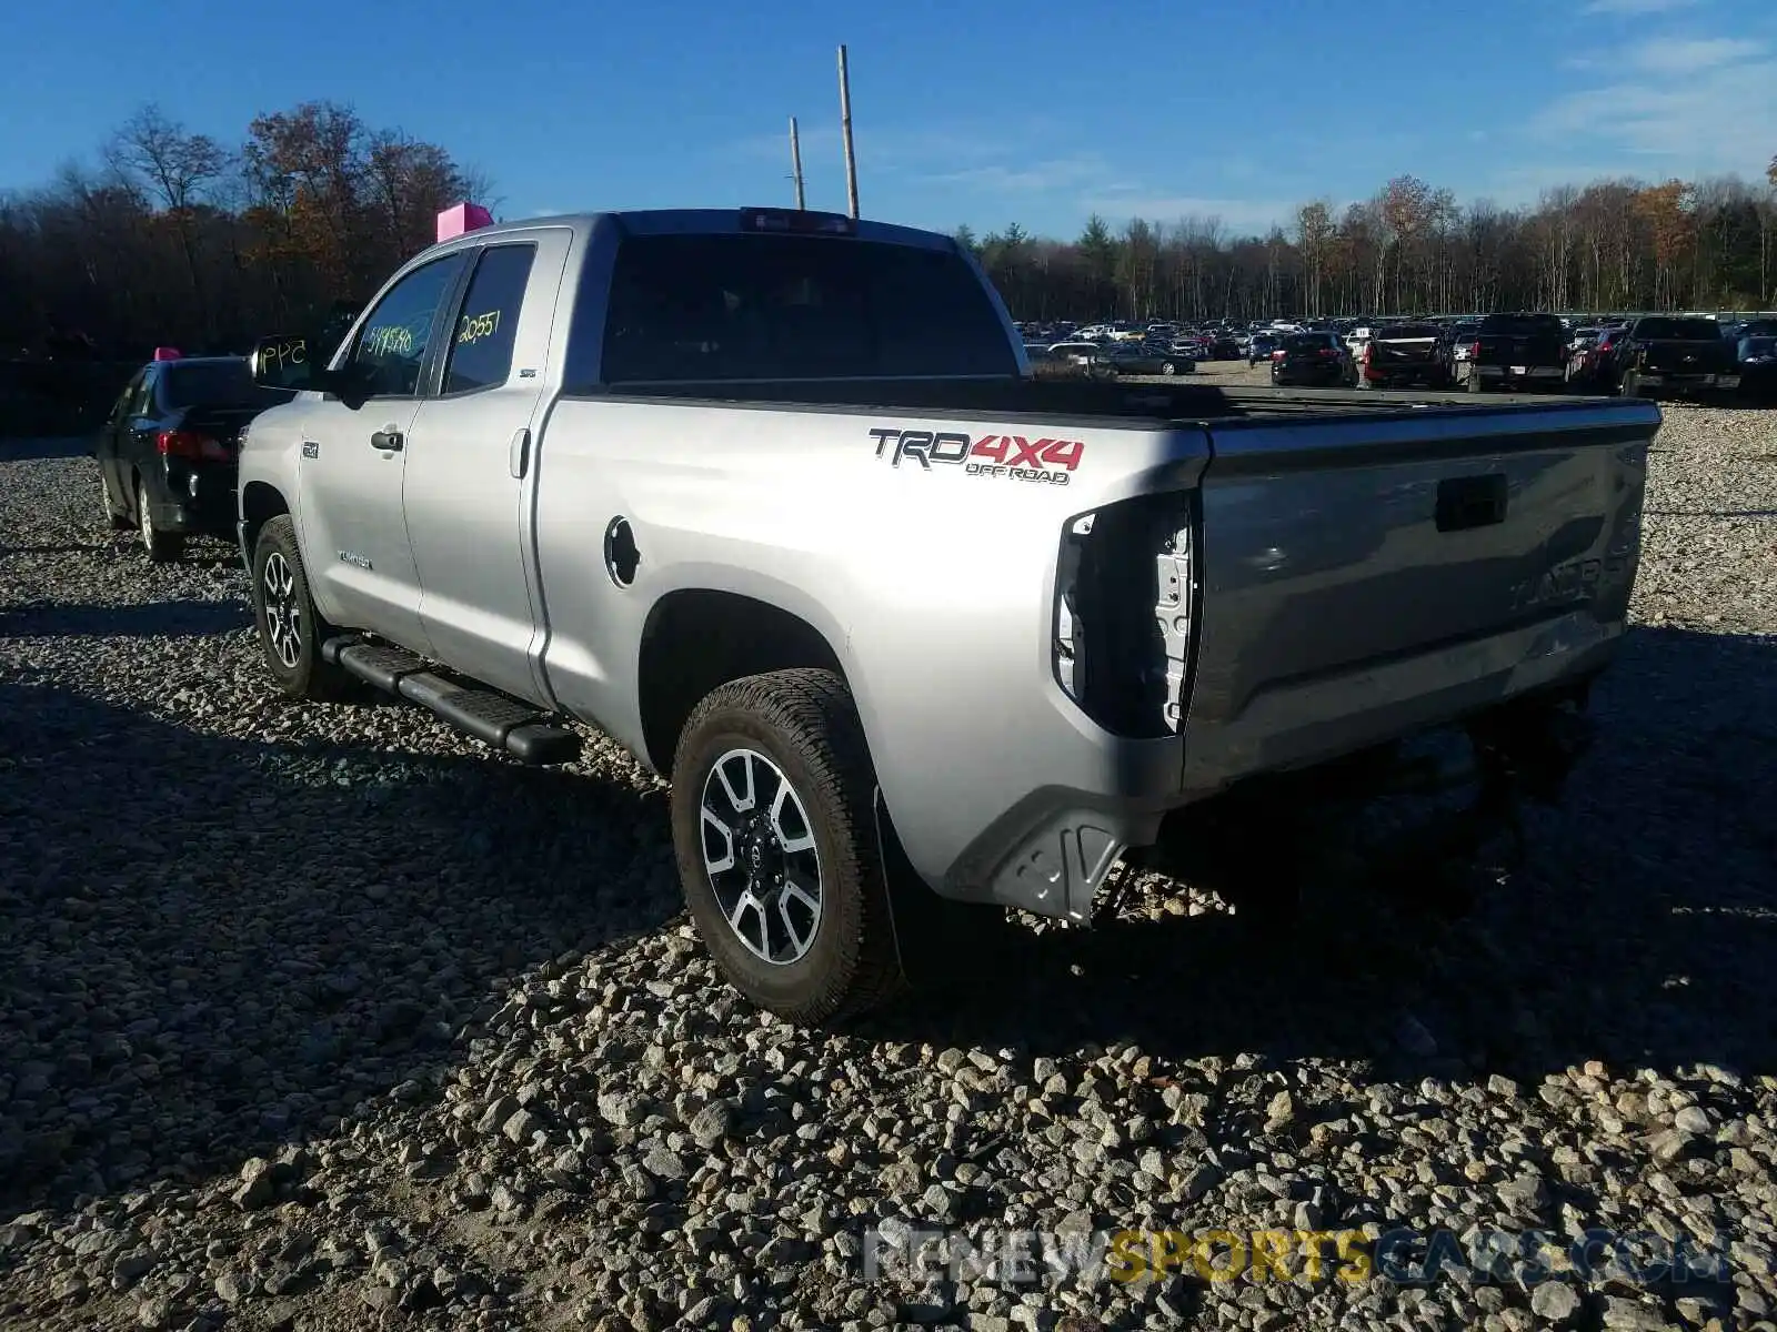
[[[794,1021],[931,902],[1089,920],[1247,778],[1569,709],[1656,407],[1032,378],[945,236],[641,211],[435,245],[240,460],[267,666],[672,783],[686,902]],[[1569,709],[1571,710],[1571,709]]]

